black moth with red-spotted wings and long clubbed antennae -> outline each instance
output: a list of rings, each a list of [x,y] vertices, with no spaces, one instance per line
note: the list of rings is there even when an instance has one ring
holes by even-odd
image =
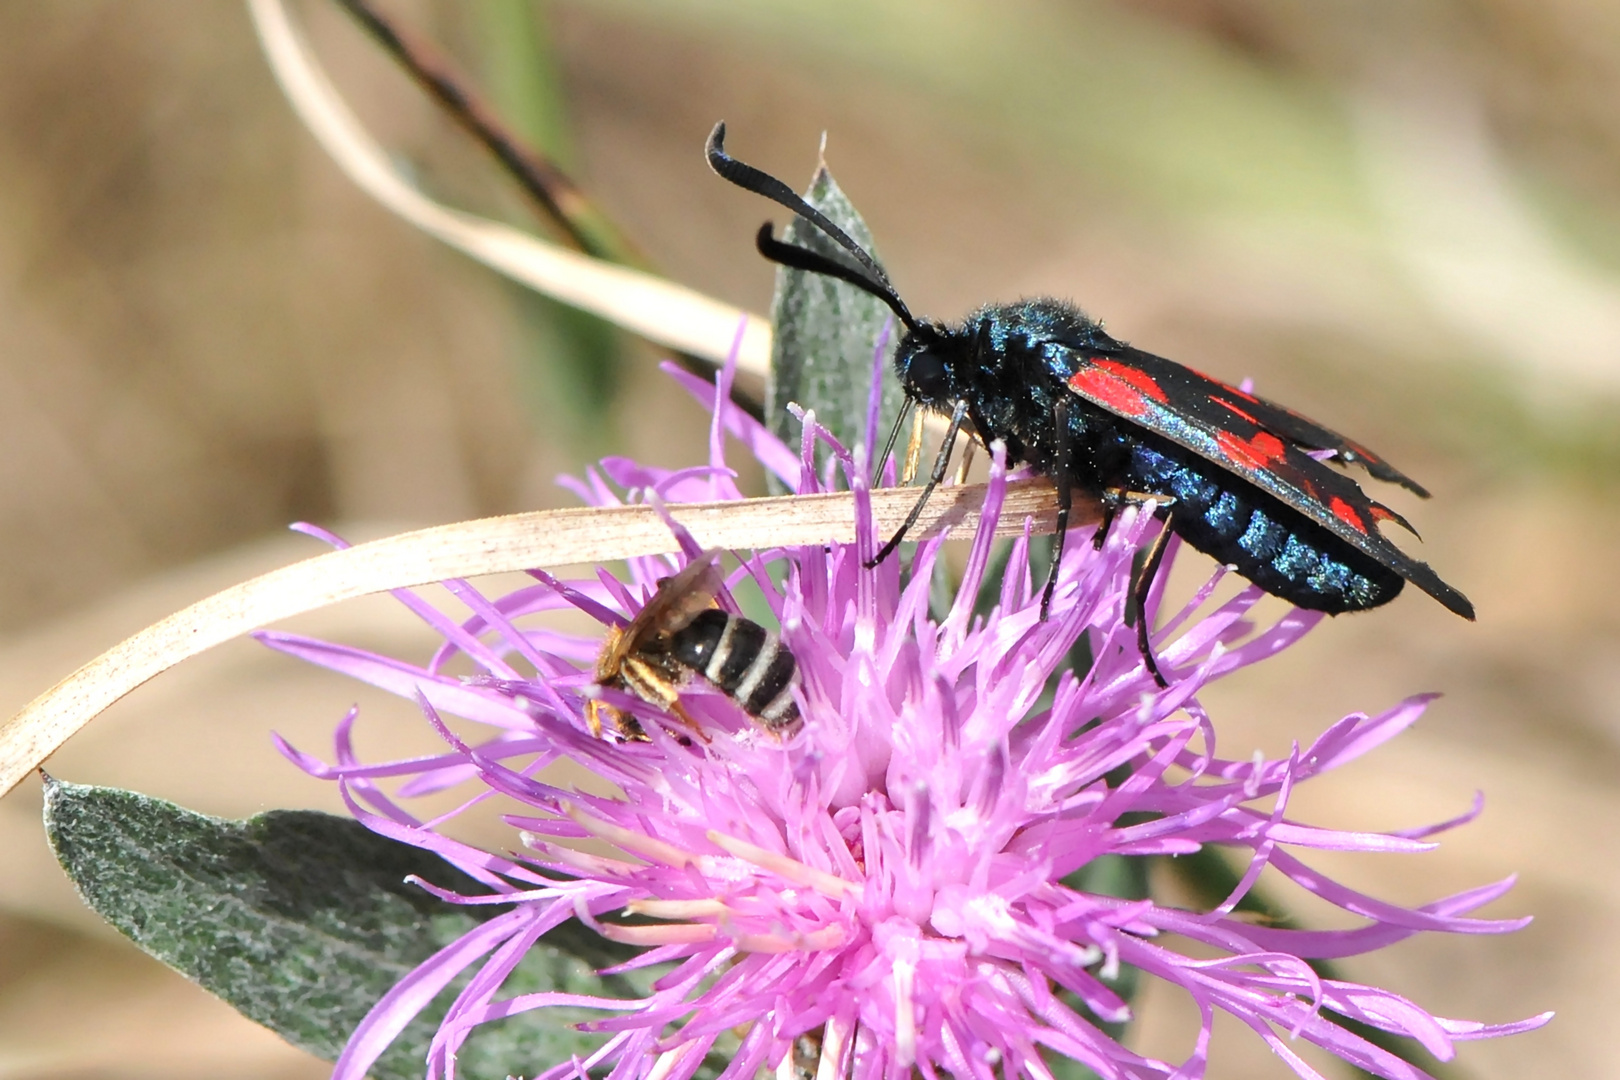
[[[716,125],[706,147],[710,167],[794,210],[850,261],[778,241],[768,223],[757,238],[760,253],[844,280],[888,304],[906,325],[894,369],[907,406],[951,418],[910,518],[876,560],[891,554],[915,521],[966,429],[985,444],[1000,439],[1009,463],[1027,463],[1058,491],[1043,612],[1058,578],[1072,494],[1081,491],[1103,502],[1098,544],[1126,504],[1153,500],[1166,521],[1132,586],[1139,610],[1163,541],[1174,533],[1298,607],[1328,614],[1379,607],[1411,581],[1458,615],[1474,617],[1468,597],[1379,531],[1383,521],[1411,526],[1327,463],[1358,465],[1377,479],[1429,494],[1364,445],[1239,387],[1131,348],[1059,300],[991,304],[957,325],[915,319],[870,253],[781,180],[727,155],[724,134],[726,126]],[[894,434],[899,431],[896,423]],[[1163,685],[1145,620],[1137,633],[1147,669]]]

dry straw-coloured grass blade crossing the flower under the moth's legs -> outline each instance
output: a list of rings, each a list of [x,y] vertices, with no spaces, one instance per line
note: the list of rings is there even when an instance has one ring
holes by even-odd
[[[946,487],[928,500],[917,539],[951,528],[972,531],[985,484]],[[904,487],[872,492],[876,533],[891,533],[917,494]],[[1095,520],[1076,505],[1071,523]],[[789,544],[849,544],[855,539],[850,494],[787,495],[669,507],[703,547],[763,549]],[[1079,521],[1076,521],[1076,517]],[[1051,533],[1056,499],[1045,479],[1008,484],[998,534],[1017,536],[1025,520]],[[113,701],[180,661],[249,630],[339,601],[429,585],[447,578],[509,573],[531,567],[601,563],[677,551],[669,526],[651,507],[541,510],[458,521],[403,533],[308,559],[243,581],[154,623],[109,649],[0,727],[0,795],[44,764],[62,743]]]

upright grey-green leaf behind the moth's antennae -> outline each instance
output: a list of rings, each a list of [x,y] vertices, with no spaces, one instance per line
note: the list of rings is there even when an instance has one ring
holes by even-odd
[[[833,219],[850,238],[872,253],[872,232],[854,204],[821,165],[805,201]],[[794,217],[782,240],[849,262],[849,256],[815,225]],[[876,257],[876,253],[872,253]],[[823,274],[789,267],[776,270],[776,296],[771,300],[771,322],[776,340],[771,347],[771,379],[765,392],[765,418],[770,429],[789,447],[799,445],[799,421],[787,413],[797,402],[815,410],[816,419],[846,447],[867,440],[867,400],[872,393],[872,364],[878,338],[889,321],[889,309],[876,296],[863,293]],[[888,434],[899,416],[904,395],[888,372],[889,359],[902,330],[896,329],[883,350],[883,408],[878,437]],[[881,450],[872,449],[873,453]],[[818,457],[818,461],[825,460]]]

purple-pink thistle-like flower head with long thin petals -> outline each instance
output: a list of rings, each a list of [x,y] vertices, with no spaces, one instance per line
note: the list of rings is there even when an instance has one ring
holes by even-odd
[[[606,1041],[588,1059],[546,1062],[543,1080],[586,1072],[687,1080],[721,1040],[731,1040],[721,1043],[731,1052],[726,1080],[760,1069],[786,1077],[795,1069],[795,1041],[807,1035],[818,1038],[818,1064],[810,1065],[818,1080],[904,1078],[914,1070],[927,1080],[990,1080],[998,1070],[1009,1080],[1047,1080],[1055,1057],[1108,1078],[1200,1077],[1217,1010],[1249,1025],[1301,1077],[1317,1074],[1294,1052],[1298,1040],[1380,1077],[1405,1078],[1426,1074],[1324,1010],[1411,1036],[1439,1059],[1450,1059],[1456,1041],[1547,1022],[1550,1014],[1507,1025],[1447,1020],[1390,991],[1322,978],[1307,963],[1421,931],[1495,934],[1528,921],[1468,916],[1511,881],[1401,908],[1328,881],[1296,855],[1421,852],[1432,847],[1429,836],[1473,819],[1477,805],[1440,826],[1379,834],[1286,816],[1298,784],[1405,730],[1427,696],[1377,716],[1348,716],[1285,759],[1217,756],[1199,691],[1286,648],[1317,614],[1291,610],[1256,630],[1247,612],[1260,593],[1247,588],[1194,620],[1212,580],[1158,635],[1160,664],[1171,675],[1171,687],[1160,690],[1123,619],[1132,552],[1160,526],[1149,513],[1128,512],[1100,551],[1084,534],[1071,542],[1050,620],[1040,620],[1027,536],[1013,544],[996,609],[975,617],[1006,484],[1004,455],[993,447],[985,525],[954,602],[935,619],[928,586],[938,541],[919,546],[909,580],[899,560],[863,565],[880,538],[862,499],[862,452],[846,452],[805,416],[795,455],[727,405],[729,372],[718,392],[671,374],[713,403],[708,466],[666,471],[606,460],[573,484],[585,500],[614,504],[617,491],[661,502],[739,499],[723,457],[727,434],[799,492],[831,483],[813,468],[812,450],[823,442],[857,492],[855,544],[760,552],[729,575],[732,588],[750,581],[779,620],[782,643],[799,661],[804,724],[778,738],[695,682],[682,706],[703,735],[690,738],[663,711],[593,683],[601,638],[525,622],[572,607],[622,625],[659,578],[700,554],[684,534],[682,559],[632,560],[629,583],[606,573],[557,581],[535,572],[535,585],[486,597],[465,581],[447,581],[471,610],[463,622],[400,593],[444,636],[424,665],[259,635],[272,648],[420,703],[446,742],[441,755],[364,764],[350,742],[353,712],[337,729],[335,764],[285,743],[282,750],[308,772],[337,780],[371,829],[437,852],[489,889],[436,892],[510,907],[377,1002],[335,1077],[360,1080],[407,1022],[468,970],[476,975],[433,1041],[429,1077],[454,1075],[455,1052],[480,1023],[552,1006],[599,1009],[603,1018],[590,1027]],[[1076,675],[1066,665],[1082,635],[1097,659]],[[481,674],[452,675],[452,661],[470,661]],[[586,708],[598,698],[632,714],[646,740],[591,737]],[[467,740],[441,719],[446,714],[489,730]],[[539,776],[564,759],[619,793],[564,790]],[[403,784],[390,795],[382,779]],[[446,818],[421,821],[402,805],[467,782],[476,793],[460,810],[492,795],[523,805],[505,818],[520,831],[522,853],[471,848],[436,831]],[[585,853],[582,840],[617,855]],[[1066,884],[1105,855],[1183,855],[1209,844],[1246,865],[1241,884],[1210,910]],[[1238,902],[1265,868],[1359,925],[1306,931],[1238,918]],[[620,913],[642,918],[625,925]],[[643,947],[622,970],[667,965],[667,973],[633,1001],[502,997],[502,981],[525,950],[567,920]],[[1194,942],[1197,959],[1184,942]],[[1131,1014],[1113,989],[1124,965],[1181,988],[1197,1006],[1202,1023],[1186,1061],[1139,1056],[1105,1030]]]

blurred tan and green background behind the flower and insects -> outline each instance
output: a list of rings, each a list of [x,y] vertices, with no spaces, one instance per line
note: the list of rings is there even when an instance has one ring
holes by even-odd
[[[1620,6],[1605,0],[387,0],[672,279],[765,311],[765,204],[828,160],[919,311],[1055,293],[1110,332],[1377,447],[1466,591],[1324,625],[1207,701],[1226,756],[1440,690],[1296,795],[1439,852],[1317,858],[1406,904],[1520,873],[1494,939],[1348,963],[1434,1012],[1554,1023],[1463,1077],[1620,1075]],[[330,3],[298,5],[371,131],[434,196],[544,230]],[[776,214],[776,220],[782,215]],[[604,453],[700,460],[659,353],[522,295],[373,206],[284,104],[245,10],[0,5],[0,695],[352,538],[567,505]],[[1191,560],[1189,560],[1191,562]],[[293,623],[424,638],[387,602]],[[267,730],[326,748],[355,687],[235,643],[76,737],[57,776],[194,810],[334,808]],[[394,709],[389,712],[387,709]],[[400,733],[387,722],[397,717]],[[426,745],[377,706],[381,746]],[[390,742],[392,740],[392,742]],[[0,801],[0,1077],[318,1077],[324,1065],[99,926]],[[1187,1052],[1149,996],[1144,1051]],[[1281,1077],[1218,1028],[1217,1077]]]

